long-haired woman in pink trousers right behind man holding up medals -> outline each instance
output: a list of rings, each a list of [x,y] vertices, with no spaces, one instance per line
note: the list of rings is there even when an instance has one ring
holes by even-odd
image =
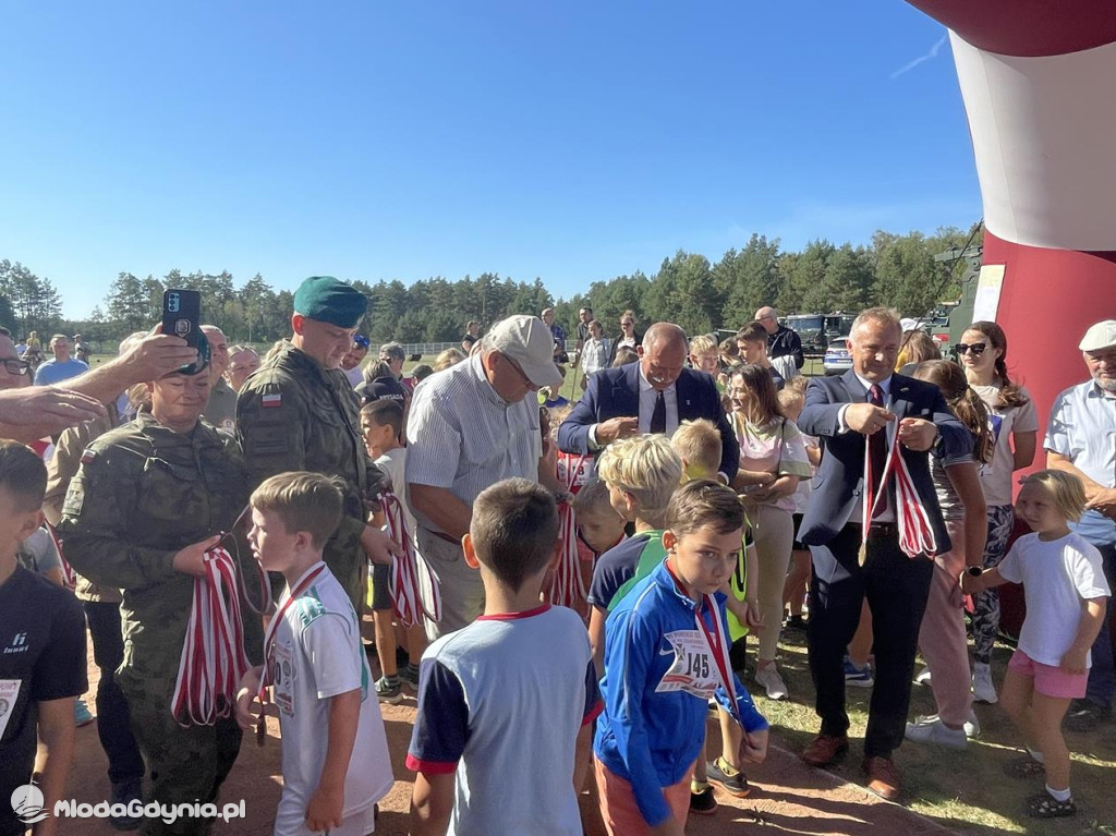
[[[972,433],[973,451],[950,459],[931,454],[930,474],[953,547],[934,555],[934,577],[918,630],[918,650],[932,675],[937,717],[907,723],[906,738],[961,749],[968,743],[965,723],[973,717],[964,595],[958,578],[965,566],[980,566],[984,555],[987,512],[979,468],[992,458],[992,435],[988,410],[956,363],[926,361],[915,366],[913,376],[942,391],[950,410]]]

